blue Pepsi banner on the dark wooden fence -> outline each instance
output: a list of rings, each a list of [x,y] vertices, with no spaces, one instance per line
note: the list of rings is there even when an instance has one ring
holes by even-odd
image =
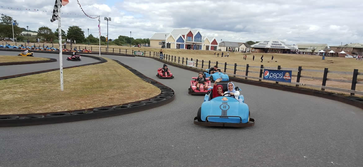
[[[291,82],[291,70],[264,69],[264,80]]]

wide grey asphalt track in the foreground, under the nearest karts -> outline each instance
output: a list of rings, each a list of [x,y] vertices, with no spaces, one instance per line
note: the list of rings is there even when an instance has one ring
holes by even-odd
[[[203,96],[187,93],[197,73],[163,63],[105,56],[175,91],[166,106],[63,124],[0,128],[0,166],[362,166],[363,112],[334,100],[235,83],[254,127],[193,124]],[[83,61],[83,60],[82,60]],[[132,83],[132,81],[130,81]],[[137,83],[134,83],[137,84]],[[132,90],[130,90],[132,91]]]

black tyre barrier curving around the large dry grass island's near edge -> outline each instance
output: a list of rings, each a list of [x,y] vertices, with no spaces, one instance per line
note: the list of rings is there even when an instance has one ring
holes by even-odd
[[[53,52],[54,53],[54,52]],[[91,56],[90,56],[91,57]],[[94,57],[94,56],[92,56]],[[99,58],[102,61],[103,58]],[[106,59],[103,59],[106,61]],[[115,60],[118,64],[122,65],[126,69],[130,70],[136,76],[140,77],[145,82],[148,82],[161,90],[159,95],[155,97],[144,99],[136,102],[131,102],[128,104],[116,105],[116,106],[104,106],[97,108],[87,108],[85,110],[75,110],[75,111],[64,111],[55,113],[40,113],[40,114],[30,114],[25,116],[16,115],[0,115],[0,127],[18,127],[27,125],[42,125],[42,124],[54,124],[54,123],[65,123],[72,121],[90,120],[98,119],[103,117],[118,116],[124,114],[130,114],[133,112],[139,112],[148,110],[151,108],[159,107],[170,103],[174,100],[174,90],[163,85],[162,83],[144,76],[144,74],[138,72],[135,69]],[[98,62],[99,64],[100,62]],[[82,66],[82,65],[81,65]],[[78,67],[78,66],[77,66]],[[58,69],[57,69],[58,70]],[[48,70],[46,70],[48,72]],[[43,73],[44,71],[34,72]],[[23,74],[20,74],[23,75]],[[31,75],[31,74],[27,74]],[[9,77],[9,76],[8,76]],[[122,112],[121,112],[122,111]],[[44,116],[45,115],[45,116]],[[39,119],[33,119],[39,118]]]

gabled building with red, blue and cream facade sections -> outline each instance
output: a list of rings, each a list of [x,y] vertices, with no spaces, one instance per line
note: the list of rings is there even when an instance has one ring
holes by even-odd
[[[166,41],[166,48],[218,50],[215,38],[203,36],[199,30],[175,29],[171,33],[155,33],[150,38],[150,47],[161,48]]]

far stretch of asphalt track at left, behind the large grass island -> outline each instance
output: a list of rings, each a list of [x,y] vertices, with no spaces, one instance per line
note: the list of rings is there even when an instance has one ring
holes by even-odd
[[[0,55],[18,55],[19,52],[13,51],[0,51]],[[47,57],[57,59],[56,62],[50,63],[36,63],[36,64],[22,64],[22,65],[3,65],[0,66],[0,77],[4,76],[12,76],[16,74],[24,74],[48,69],[59,68],[59,55],[58,54],[49,54],[49,53],[33,53],[34,57]],[[81,61],[68,61],[67,57],[70,55],[63,55],[63,67],[70,67],[74,65],[81,64],[89,64],[95,63],[99,60],[90,58],[90,57],[81,57]]]

